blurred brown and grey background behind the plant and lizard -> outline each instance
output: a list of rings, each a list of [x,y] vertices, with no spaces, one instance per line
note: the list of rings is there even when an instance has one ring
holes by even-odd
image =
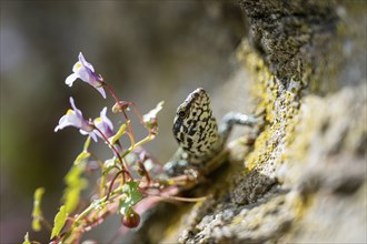
[[[246,31],[231,1],[1,1],[1,243],[20,243],[27,231],[31,240],[49,240],[48,232],[31,231],[32,195],[46,187],[42,209],[52,222],[62,179],[86,139],[70,128],[53,132],[69,96],[86,118],[113,104],[80,80],[65,84],[80,51],[141,113],[166,101],[159,136],[148,145],[166,162],[177,148],[177,105],[196,88],[215,93],[229,79]],[[120,118],[108,115],[117,126]],[[138,123],[135,131],[145,135]],[[95,236],[102,242],[118,228]]]

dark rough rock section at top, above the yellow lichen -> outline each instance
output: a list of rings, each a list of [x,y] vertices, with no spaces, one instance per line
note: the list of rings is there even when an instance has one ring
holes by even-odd
[[[300,80],[309,69],[327,63],[323,53],[337,20],[331,1],[241,1],[241,6],[251,22],[252,43],[277,78]]]

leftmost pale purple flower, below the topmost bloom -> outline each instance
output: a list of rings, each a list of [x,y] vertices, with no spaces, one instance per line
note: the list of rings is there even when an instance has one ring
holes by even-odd
[[[72,110],[69,109],[67,113],[61,116],[59,124],[54,128],[54,132],[62,130],[66,126],[75,126],[80,129],[81,134],[89,134],[97,142],[97,135],[93,132],[95,126],[82,116],[81,111],[78,110],[71,96],[70,104]]]

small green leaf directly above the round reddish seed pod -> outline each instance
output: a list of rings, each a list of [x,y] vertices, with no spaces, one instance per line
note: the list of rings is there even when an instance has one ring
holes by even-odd
[[[127,197],[120,201],[119,212],[122,215],[127,215],[131,206],[142,200],[142,194],[139,192],[139,183],[133,181],[127,182],[122,191]]]

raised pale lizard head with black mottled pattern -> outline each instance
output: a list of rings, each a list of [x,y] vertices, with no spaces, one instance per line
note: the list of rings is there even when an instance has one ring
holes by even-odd
[[[210,99],[202,88],[196,89],[178,106],[173,120],[173,135],[191,160],[202,161],[219,143],[216,119]]]

